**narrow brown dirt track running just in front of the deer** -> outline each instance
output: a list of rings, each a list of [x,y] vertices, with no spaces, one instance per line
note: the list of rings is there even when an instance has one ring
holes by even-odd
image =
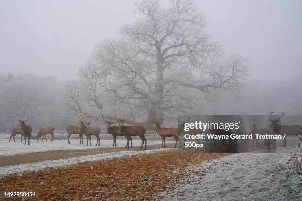
[[[174,145],[167,144],[167,148],[172,148]],[[147,150],[158,149],[161,145],[149,145]],[[133,147],[129,150],[139,150],[139,146]],[[57,159],[67,159],[71,157],[80,157],[94,154],[103,154],[116,151],[127,151],[124,147],[110,147],[110,148],[99,148],[99,149],[82,149],[82,150],[61,150],[61,151],[47,151],[47,152],[36,152],[15,156],[4,156],[0,157],[0,167],[2,166],[12,166],[20,165],[25,163],[34,163],[46,160],[57,160]],[[143,150],[142,150],[143,151]]]

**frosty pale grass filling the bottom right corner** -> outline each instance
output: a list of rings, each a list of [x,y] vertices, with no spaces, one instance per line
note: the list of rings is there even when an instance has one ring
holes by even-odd
[[[288,146],[279,152],[295,150],[296,146]],[[163,192],[159,200],[300,201],[302,171],[293,169],[291,155],[240,153],[191,166],[185,170],[188,178],[172,192]]]

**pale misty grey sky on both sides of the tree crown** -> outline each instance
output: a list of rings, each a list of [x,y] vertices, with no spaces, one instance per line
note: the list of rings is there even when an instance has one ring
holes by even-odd
[[[0,0],[0,74],[72,78],[94,46],[132,22],[136,0]],[[301,0],[198,0],[226,53],[259,79],[302,75]],[[163,1],[167,4],[168,1]]]

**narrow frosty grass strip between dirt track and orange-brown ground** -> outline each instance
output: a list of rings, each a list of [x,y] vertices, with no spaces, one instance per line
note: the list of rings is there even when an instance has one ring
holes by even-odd
[[[36,163],[28,163],[28,164],[21,164],[15,166],[5,166],[5,167],[0,167],[0,177],[13,173],[22,174],[23,171],[37,171],[47,167],[73,165],[81,162],[106,160],[106,159],[112,159],[118,157],[133,156],[138,154],[150,154],[150,153],[155,153],[165,150],[167,149],[153,149],[153,150],[145,150],[145,151],[119,151],[119,152],[111,152],[111,153],[104,153],[104,154],[73,157],[68,159],[41,161]]]

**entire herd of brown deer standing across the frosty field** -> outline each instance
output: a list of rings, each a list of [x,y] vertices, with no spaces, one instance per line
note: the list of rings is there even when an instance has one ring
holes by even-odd
[[[271,121],[271,125],[270,127],[273,128],[274,132],[276,134],[281,134],[284,135],[297,135],[300,136],[302,134],[302,126],[300,125],[280,125],[278,122],[279,120],[283,117],[284,112],[281,112],[281,116],[277,119],[273,119],[272,118],[272,114],[273,112],[270,112],[270,121]],[[108,134],[111,134],[113,136],[113,147],[117,146],[116,144],[116,138],[117,136],[124,136],[127,139],[127,145],[126,148],[132,148],[132,137],[134,136],[139,136],[142,140],[142,145],[140,147],[140,149],[143,148],[143,145],[145,143],[145,149],[147,148],[147,139],[145,137],[145,132],[146,132],[146,127],[141,126],[141,125],[134,125],[134,126],[124,126],[124,119],[120,119],[117,117],[114,117],[113,119],[106,119],[104,116],[102,116],[103,120],[102,121],[105,125],[106,125],[106,132]],[[27,120],[27,119],[26,119]],[[28,139],[28,143],[27,145],[30,145],[30,135],[32,132],[32,127],[31,126],[27,126],[25,124],[25,121],[23,119],[23,117],[21,117],[18,122],[19,122],[19,127],[13,128],[12,129],[12,134],[10,136],[9,142],[11,140],[11,138],[13,137],[14,141],[15,141],[15,136],[16,134],[21,134],[21,141],[22,141],[22,136],[24,136],[24,145],[26,145],[26,139]],[[181,125],[180,128],[164,128],[161,127],[161,123],[163,122],[162,119],[154,119],[154,128],[156,130],[156,132],[161,136],[161,148],[165,148],[166,147],[166,137],[174,137],[175,138],[175,145],[174,148],[177,146],[177,142],[179,142],[179,147],[181,147],[181,140],[179,138],[181,133],[184,133],[184,125],[185,123],[189,122],[189,116],[187,116],[187,120],[186,121],[181,121],[180,120],[180,116],[178,116],[176,118],[176,120],[179,122],[179,124]],[[118,122],[118,126],[111,126],[114,123]],[[79,140],[80,140],[80,144],[83,144],[83,134],[85,134],[87,136],[87,145],[88,146],[88,140],[91,146],[91,136],[96,136],[97,138],[97,143],[96,146],[100,146],[100,137],[99,134],[101,132],[101,129],[99,127],[92,127],[91,125],[91,119],[90,121],[84,121],[83,118],[81,118],[79,120],[79,125],[70,125],[66,127],[66,131],[68,132],[68,144],[70,144],[69,138],[71,136],[71,134],[78,134],[79,135]],[[254,124],[251,127],[251,132],[249,134],[260,134],[260,135],[269,135],[270,131],[266,128],[257,128],[256,125]],[[55,128],[52,126],[48,126],[48,127],[44,127],[42,128],[39,133],[34,137],[34,139],[39,140],[40,137],[42,137],[42,141],[43,138],[45,137],[46,141],[46,134],[51,134],[51,141],[54,140],[54,130]],[[197,135],[197,134],[201,134],[201,130],[200,129],[190,129],[188,132],[186,132],[186,134],[189,135]],[[211,129],[211,133],[212,134],[216,134],[216,135],[229,135],[231,134],[231,131],[226,132],[225,130],[221,130],[221,129]],[[286,146],[286,136],[284,138],[284,146]],[[254,140],[255,137],[253,137],[253,142],[252,142],[252,146],[254,145]],[[131,147],[130,147],[130,142],[131,141]],[[200,139],[198,140],[200,143]],[[264,146],[266,144],[266,142],[268,141],[268,146],[270,146],[270,141],[269,140],[265,140],[264,142]],[[186,142],[186,139],[184,139],[184,142]],[[211,140],[211,145],[212,145],[212,140]],[[214,145],[215,141],[214,141]],[[226,145],[226,141],[223,141],[223,145]],[[259,139],[256,139],[256,146],[259,146],[260,142]]]

